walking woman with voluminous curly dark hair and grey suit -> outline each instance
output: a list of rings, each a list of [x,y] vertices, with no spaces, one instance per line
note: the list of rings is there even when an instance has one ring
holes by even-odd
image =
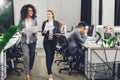
[[[21,8],[19,24],[23,27],[20,31],[20,34],[22,35],[20,42],[24,56],[24,69],[26,74],[26,80],[30,80],[29,75],[32,74],[32,68],[35,58],[37,32],[29,32],[28,34],[28,32],[25,30],[37,26],[36,9],[33,5],[27,4]]]

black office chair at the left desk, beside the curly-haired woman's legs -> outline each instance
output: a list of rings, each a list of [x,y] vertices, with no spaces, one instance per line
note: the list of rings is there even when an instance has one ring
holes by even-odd
[[[21,46],[19,45],[14,45],[13,47],[7,49],[6,51],[6,55],[7,55],[7,72],[16,72],[17,75],[21,75],[19,70],[21,70],[21,72],[23,72],[23,68],[19,68],[17,67],[17,65],[19,63],[23,64],[23,61],[21,60],[22,57],[22,52],[21,52]]]

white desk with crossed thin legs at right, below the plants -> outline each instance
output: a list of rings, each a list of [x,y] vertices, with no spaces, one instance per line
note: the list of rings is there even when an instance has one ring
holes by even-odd
[[[120,47],[101,48],[93,42],[83,44],[85,52],[85,75],[88,79],[109,79],[118,80],[118,70],[120,63]]]

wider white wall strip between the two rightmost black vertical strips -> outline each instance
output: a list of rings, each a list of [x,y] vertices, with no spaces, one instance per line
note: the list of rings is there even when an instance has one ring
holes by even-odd
[[[115,0],[103,0],[103,25],[114,26]]]

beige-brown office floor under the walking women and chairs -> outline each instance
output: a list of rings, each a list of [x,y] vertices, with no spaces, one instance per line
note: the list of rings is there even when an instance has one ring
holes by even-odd
[[[22,65],[19,66],[22,67]],[[58,73],[61,67],[62,64],[60,64],[60,66],[57,66],[56,63],[53,64],[54,80],[86,80],[84,75],[78,73],[73,73],[72,75],[68,75],[67,71]],[[21,76],[18,76],[16,73],[12,72],[8,74],[6,80],[25,80],[24,72],[23,73],[21,72]],[[43,49],[37,49],[37,55],[35,58],[33,75],[31,76],[31,80],[48,80],[45,65],[45,54]]]

